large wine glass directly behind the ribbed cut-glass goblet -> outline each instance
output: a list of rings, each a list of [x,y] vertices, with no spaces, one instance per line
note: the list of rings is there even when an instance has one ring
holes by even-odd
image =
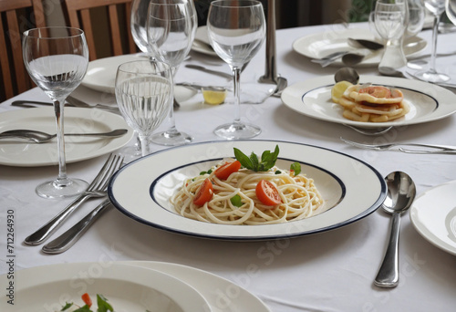
[[[192,0],[150,1],[147,19],[150,55],[168,63],[173,76],[190,52],[196,27],[196,10]],[[151,136],[154,143],[181,145],[193,140],[189,134],[177,130],[172,107],[170,121],[168,130]]]

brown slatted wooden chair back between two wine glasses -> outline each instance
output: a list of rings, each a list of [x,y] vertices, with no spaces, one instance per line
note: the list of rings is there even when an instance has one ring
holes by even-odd
[[[137,52],[137,47],[130,31],[131,2],[132,0],[65,0],[66,13],[70,26],[81,28],[86,34],[90,60],[98,58],[95,44],[96,39],[94,37],[94,26],[92,19],[90,18],[90,10],[97,7],[106,7],[107,9],[111,55],[119,56],[126,53]],[[123,29],[126,29],[127,40],[125,40],[126,43],[123,45],[121,40],[121,19],[119,18],[118,5],[123,5],[123,12],[125,13],[125,18],[123,20],[125,20],[124,24],[126,25],[123,26]],[[124,49],[126,50],[125,53]]]

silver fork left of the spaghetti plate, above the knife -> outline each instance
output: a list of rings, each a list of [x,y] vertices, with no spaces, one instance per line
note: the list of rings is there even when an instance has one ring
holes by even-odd
[[[110,177],[117,172],[122,165],[123,157],[110,154],[108,160],[101,168],[93,182],[88,185],[88,190],[78,196],[78,198],[70,203],[67,208],[58,213],[47,224],[36,230],[34,234],[30,234],[24,241],[25,244],[41,244],[47,237],[56,232],[57,228],[67,219],[69,214],[73,213],[82,203],[89,198],[99,198],[106,196],[106,188]]]

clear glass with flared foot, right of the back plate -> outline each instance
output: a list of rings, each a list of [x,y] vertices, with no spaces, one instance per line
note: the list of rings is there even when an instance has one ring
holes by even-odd
[[[387,40],[378,68],[401,68],[407,64],[402,40],[409,22],[407,1],[378,0],[375,6],[375,26],[378,35]]]

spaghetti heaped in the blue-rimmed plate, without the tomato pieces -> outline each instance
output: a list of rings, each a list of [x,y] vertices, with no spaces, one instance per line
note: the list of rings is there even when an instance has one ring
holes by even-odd
[[[324,203],[314,181],[305,174],[295,175],[275,166],[266,172],[242,168],[222,180],[215,172],[224,164],[226,161],[183,182],[181,190],[171,197],[177,213],[215,224],[279,224],[308,218]],[[213,195],[200,206],[193,199],[207,179],[212,182]],[[258,199],[255,188],[262,180],[275,186],[282,203],[270,206]]]

